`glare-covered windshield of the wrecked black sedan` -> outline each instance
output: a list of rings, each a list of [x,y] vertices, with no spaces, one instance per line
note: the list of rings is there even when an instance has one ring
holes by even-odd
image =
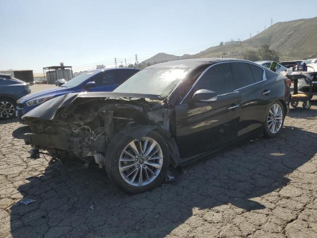
[[[145,68],[119,85],[113,92],[155,94],[166,97],[190,68]]]

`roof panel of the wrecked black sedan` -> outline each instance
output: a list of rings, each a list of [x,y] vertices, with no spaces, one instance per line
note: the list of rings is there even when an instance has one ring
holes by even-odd
[[[194,68],[204,63],[217,63],[217,62],[225,62],[225,61],[245,61],[249,63],[251,62],[249,60],[230,59],[230,58],[199,58],[199,59],[168,61],[168,62],[154,64],[147,68]]]

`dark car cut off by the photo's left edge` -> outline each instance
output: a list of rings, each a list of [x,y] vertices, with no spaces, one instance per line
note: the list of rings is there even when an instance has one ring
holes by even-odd
[[[16,100],[31,93],[28,83],[0,73],[0,119],[15,117]]]

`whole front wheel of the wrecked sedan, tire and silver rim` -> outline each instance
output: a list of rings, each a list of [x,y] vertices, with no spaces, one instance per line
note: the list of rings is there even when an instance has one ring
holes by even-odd
[[[168,166],[166,142],[156,131],[149,132],[141,141],[119,133],[107,148],[107,175],[128,193],[157,187],[166,177]]]

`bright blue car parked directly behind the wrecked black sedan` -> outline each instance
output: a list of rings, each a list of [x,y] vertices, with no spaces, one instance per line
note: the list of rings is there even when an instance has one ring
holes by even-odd
[[[78,92],[110,92],[127,78],[138,72],[137,68],[104,68],[96,69],[74,77],[61,87],[51,88],[29,94],[17,101],[16,116],[21,117],[40,104],[64,94]]]

